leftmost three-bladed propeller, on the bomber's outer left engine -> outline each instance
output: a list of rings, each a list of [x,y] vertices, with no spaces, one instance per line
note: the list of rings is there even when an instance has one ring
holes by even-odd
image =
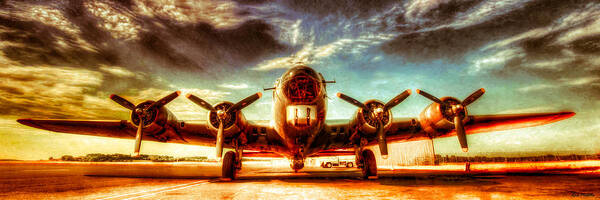
[[[117,102],[121,106],[131,110],[132,112],[135,112],[135,115],[138,116],[138,119],[140,122],[138,124],[137,131],[135,133],[135,147],[133,150],[135,156],[140,155],[140,148],[142,146],[142,137],[143,137],[143,132],[144,132],[144,120],[148,120],[152,116],[152,111],[154,109],[163,107],[164,105],[173,101],[173,99],[177,98],[180,94],[181,94],[180,91],[175,91],[175,92],[163,97],[162,99],[159,99],[158,101],[153,102],[152,104],[150,104],[147,107],[142,106],[142,104],[135,106],[133,103],[131,103],[127,99],[120,97],[119,95],[116,95],[116,94],[110,95],[110,99],[112,99],[114,102]]]

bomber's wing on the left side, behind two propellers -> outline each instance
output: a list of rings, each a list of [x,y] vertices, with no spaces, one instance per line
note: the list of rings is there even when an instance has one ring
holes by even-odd
[[[63,119],[18,119],[17,122],[34,128],[79,135],[135,139],[136,127],[127,120],[63,120]],[[206,121],[179,121],[174,127],[176,135],[144,135],[145,141],[168,142],[214,146],[216,131],[211,130]],[[182,126],[183,125],[183,126]],[[245,129],[251,138],[248,141],[252,147],[262,147],[267,144],[260,137],[271,131],[262,123],[249,122]],[[263,134],[264,133],[264,134]],[[226,146],[228,147],[228,146]]]

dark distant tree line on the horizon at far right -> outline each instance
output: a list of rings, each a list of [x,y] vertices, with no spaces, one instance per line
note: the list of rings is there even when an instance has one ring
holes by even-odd
[[[536,162],[536,161],[566,161],[566,160],[600,160],[600,154],[592,155],[543,155],[543,156],[522,156],[522,157],[487,157],[487,156],[441,156],[435,155],[436,163],[454,163],[454,162]]]

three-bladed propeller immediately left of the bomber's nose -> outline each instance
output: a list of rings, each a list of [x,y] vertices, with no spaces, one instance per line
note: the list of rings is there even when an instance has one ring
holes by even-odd
[[[248,97],[246,97],[245,99],[242,99],[241,101],[233,104],[231,107],[227,108],[226,110],[224,109],[216,109],[215,107],[211,106],[208,102],[202,100],[201,98],[198,98],[197,96],[194,96],[193,94],[187,94],[186,97],[188,99],[190,99],[192,102],[194,102],[195,104],[199,105],[200,107],[211,111],[211,112],[215,112],[217,113],[217,119],[219,119],[219,127],[217,129],[217,142],[216,142],[216,151],[217,151],[217,159],[220,159],[222,154],[223,154],[223,142],[224,142],[224,136],[223,136],[223,129],[225,129],[224,127],[224,122],[227,118],[229,118],[230,115],[235,114],[237,111],[240,111],[242,109],[244,109],[246,106],[254,103],[256,100],[258,100],[260,97],[262,97],[262,93],[258,92],[255,93],[253,95],[250,95]]]

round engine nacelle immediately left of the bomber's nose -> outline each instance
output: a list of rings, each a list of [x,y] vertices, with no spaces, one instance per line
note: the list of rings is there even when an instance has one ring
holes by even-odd
[[[225,101],[218,103],[214,106],[216,110],[227,110],[233,103]],[[208,126],[217,132],[219,129],[219,118],[216,112],[208,111]],[[223,126],[223,135],[225,138],[233,136],[235,133],[239,133],[242,129],[241,127],[246,127],[247,121],[241,111],[236,112],[235,114],[227,115],[225,118]]]

